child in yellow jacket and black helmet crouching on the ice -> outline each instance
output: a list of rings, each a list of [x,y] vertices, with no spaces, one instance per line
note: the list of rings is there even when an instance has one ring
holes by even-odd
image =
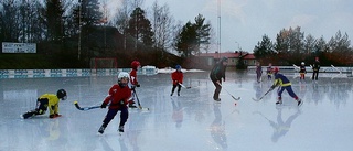
[[[36,108],[22,115],[23,119],[34,117],[36,115],[44,115],[49,108],[49,118],[61,117],[58,115],[58,101],[67,98],[64,89],[58,89],[55,94],[44,94],[36,99]]]

